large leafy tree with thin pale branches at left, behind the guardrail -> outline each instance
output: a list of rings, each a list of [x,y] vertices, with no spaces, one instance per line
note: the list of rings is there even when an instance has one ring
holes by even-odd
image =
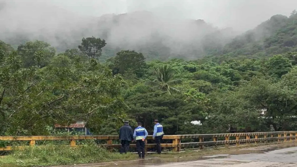
[[[105,120],[112,118],[119,125],[126,117],[120,96],[125,81],[109,69],[86,71],[64,55],[42,69],[24,68],[17,51],[1,57],[2,135],[48,135],[46,126],[76,119],[95,121],[89,127],[97,132]]]

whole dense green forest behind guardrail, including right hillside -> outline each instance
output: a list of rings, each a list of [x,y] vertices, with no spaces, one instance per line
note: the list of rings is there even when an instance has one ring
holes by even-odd
[[[75,120],[94,134],[116,134],[123,120],[152,133],[154,119],[167,135],[296,129],[295,11],[225,45],[206,38],[197,47],[207,44],[206,57],[191,61],[168,59],[160,38],[145,48],[154,57],[120,47],[107,56],[105,37],[83,38],[63,52],[40,40],[0,41],[0,134],[49,135],[54,124]]]

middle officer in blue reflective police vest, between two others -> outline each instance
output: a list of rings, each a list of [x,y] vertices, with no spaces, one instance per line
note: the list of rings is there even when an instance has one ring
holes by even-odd
[[[134,130],[133,137],[136,140],[136,147],[138,152],[138,157],[144,159],[144,147],[145,142],[144,140],[148,136],[148,132],[146,131],[146,128],[141,127],[141,123],[138,123],[138,127]]]

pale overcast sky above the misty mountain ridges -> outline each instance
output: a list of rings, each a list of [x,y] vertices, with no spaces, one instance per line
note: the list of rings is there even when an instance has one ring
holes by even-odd
[[[42,1],[42,0],[40,0]],[[168,17],[204,19],[215,26],[247,30],[272,15],[290,15],[297,0],[43,0],[81,15],[149,10]]]

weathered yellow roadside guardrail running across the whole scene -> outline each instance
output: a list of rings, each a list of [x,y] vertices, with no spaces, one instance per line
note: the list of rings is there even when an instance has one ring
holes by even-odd
[[[232,139],[233,138],[233,139]],[[68,140],[70,146],[77,146],[77,140],[107,140],[107,144],[100,146],[112,148],[120,148],[120,144],[113,144],[113,140],[119,140],[119,136],[0,136],[0,140],[5,141],[29,141],[29,146],[35,146],[35,141],[54,141]],[[184,139],[195,139],[198,142],[181,142]],[[154,148],[155,144],[147,144],[148,140],[152,140],[152,136],[148,136],[145,140],[146,148]],[[255,133],[223,133],[223,134],[197,134],[197,135],[165,135],[163,140],[172,140],[172,143],[163,143],[161,147],[173,148],[174,152],[179,152],[181,148],[199,147],[203,149],[205,146],[225,145],[230,144],[239,146],[240,144],[257,144],[269,142],[285,142],[297,141],[297,131],[282,131],[282,132],[255,132]],[[206,141],[207,140],[207,141]],[[131,147],[136,147],[136,144],[131,144]],[[18,146],[24,147],[24,146]],[[10,151],[14,147],[7,146],[0,148],[0,151]]]

